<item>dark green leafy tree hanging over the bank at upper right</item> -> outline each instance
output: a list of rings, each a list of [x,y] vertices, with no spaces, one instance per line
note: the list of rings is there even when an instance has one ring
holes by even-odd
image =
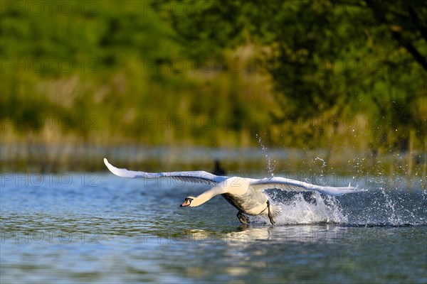
[[[181,44],[196,55],[219,57],[238,45],[262,46],[259,58],[280,104],[273,121],[326,116],[336,130],[334,117],[364,114],[376,121],[369,125],[375,147],[405,148],[414,131],[425,139],[426,107],[419,105],[427,74],[424,1],[197,3],[186,17],[170,15]],[[384,144],[379,136],[386,134],[391,138]]]

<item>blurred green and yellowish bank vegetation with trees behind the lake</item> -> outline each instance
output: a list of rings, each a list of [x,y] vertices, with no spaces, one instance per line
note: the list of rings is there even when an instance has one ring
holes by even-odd
[[[6,168],[258,147],[425,176],[425,1],[1,1],[0,48]]]

